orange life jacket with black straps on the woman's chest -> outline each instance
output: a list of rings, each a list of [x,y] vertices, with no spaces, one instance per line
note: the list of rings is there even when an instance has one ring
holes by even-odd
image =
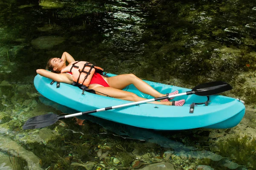
[[[86,61],[74,61],[71,62],[67,67],[61,70],[61,73],[72,72],[73,81],[78,83],[80,86],[85,85],[88,87],[93,74],[99,73],[103,74],[103,69],[97,66],[94,66],[90,62]],[[73,83],[74,84],[74,83]],[[76,85],[78,86],[78,85]]]

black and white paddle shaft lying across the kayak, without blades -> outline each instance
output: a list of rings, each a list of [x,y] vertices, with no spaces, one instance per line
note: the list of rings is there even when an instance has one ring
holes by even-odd
[[[170,96],[157,97],[154,99],[142,100],[142,101],[127,103],[127,104],[123,104],[123,105],[116,105],[116,106],[111,106],[111,107],[106,107],[106,108],[101,108],[101,109],[95,109],[95,110],[91,110],[91,111],[85,111],[85,112],[74,113],[74,114],[69,114],[69,115],[65,115],[65,116],[59,116],[59,119],[66,119],[66,118],[70,118],[70,117],[82,116],[82,115],[86,115],[86,114],[90,114],[90,113],[108,111],[108,110],[112,110],[112,109],[123,108],[123,107],[133,106],[133,105],[139,105],[139,104],[154,102],[154,101],[163,100],[163,99],[170,99],[171,97],[184,96],[184,95],[189,95],[189,94],[194,94],[194,91],[188,91],[185,93],[174,94],[174,95],[170,95]]]

